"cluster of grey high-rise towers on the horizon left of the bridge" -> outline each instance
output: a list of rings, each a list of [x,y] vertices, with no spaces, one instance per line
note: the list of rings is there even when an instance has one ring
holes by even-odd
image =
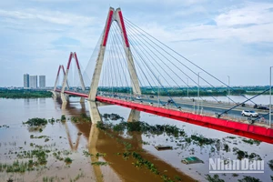
[[[24,88],[38,88],[38,76],[25,74]],[[45,88],[45,76],[39,76],[39,88]]]

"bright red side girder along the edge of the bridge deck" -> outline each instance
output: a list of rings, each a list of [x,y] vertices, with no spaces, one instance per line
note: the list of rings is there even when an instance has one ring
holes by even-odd
[[[58,90],[56,91],[59,92]],[[65,93],[68,95],[88,97],[86,94],[74,93],[71,91],[65,91]],[[105,96],[96,96],[96,100],[108,104],[114,104],[117,106],[126,106],[128,108],[144,111],[158,116],[166,116],[197,126],[205,126],[230,134],[246,136],[273,144],[273,129],[264,126],[248,125],[246,123],[230,121],[227,119],[217,118],[213,116],[201,116],[197,114],[183,112],[183,110],[149,106]]]

